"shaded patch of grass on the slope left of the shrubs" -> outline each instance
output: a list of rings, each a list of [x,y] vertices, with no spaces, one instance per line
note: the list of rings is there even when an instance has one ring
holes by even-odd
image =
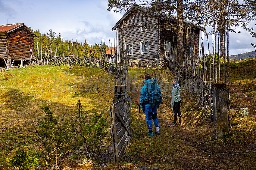
[[[47,105],[53,112],[53,116],[59,122],[70,121],[74,118],[76,103],[64,105],[59,102],[52,102],[34,95],[23,93],[15,88],[9,88],[1,96],[2,103],[0,112],[0,150],[9,153],[13,149],[23,146],[25,142],[34,144],[38,123],[45,116],[40,108]],[[83,103],[82,103],[83,104]],[[95,112],[95,109],[86,112]]]

